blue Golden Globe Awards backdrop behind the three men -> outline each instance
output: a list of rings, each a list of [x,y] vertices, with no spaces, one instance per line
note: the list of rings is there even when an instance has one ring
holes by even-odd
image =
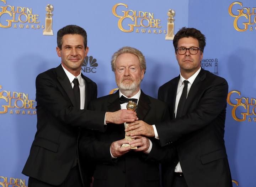
[[[27,186],[21,171],[36,132],[35,78],[60,64],[60,28],[87,31],[82,73],[97,83],[98,97],[116,88],[110,60],[123,46],[145,55],[142,89],[157,97],[159,86],[179,73],[168,22],[174,34],[186,26],[206,35],[202,68],[229,83],[225,144],[233,186],[255,187],[254,0],[0,0],[0,187]]]

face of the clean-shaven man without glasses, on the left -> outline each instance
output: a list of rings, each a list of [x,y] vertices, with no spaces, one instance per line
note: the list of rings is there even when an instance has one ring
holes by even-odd
[[[84,46],[84,38],[80,34],[65,34],[62,38],[62,49],[57,47],[57,54],[62,65],[74,76],[78,76],[89,48]]]

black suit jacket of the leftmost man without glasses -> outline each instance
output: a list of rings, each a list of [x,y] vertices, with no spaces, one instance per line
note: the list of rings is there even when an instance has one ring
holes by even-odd
[[[76,159],[79,127],[104,130],[105,112],[86,110],[97,97],[97,85],[82,78],[85,110],[73,107],[73,89],[61,65],[37,76],[37,132],[23,174],[51,185],[62,184]]]

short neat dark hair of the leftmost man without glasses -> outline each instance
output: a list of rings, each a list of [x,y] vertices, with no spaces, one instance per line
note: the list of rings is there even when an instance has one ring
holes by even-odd
[[[60,49],[62,49],[62,38],[66,34],[80,34],[84,38],[84,46],[87,47],[87,34],[85,29],[79,27],[77,25],[67,25],[61,29],[59,29],[57,33],[57,45]]]

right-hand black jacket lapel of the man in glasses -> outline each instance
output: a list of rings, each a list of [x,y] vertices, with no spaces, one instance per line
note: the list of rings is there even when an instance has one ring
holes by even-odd
[[[188,92],[188,96],[187,96],[186,103],[183,110],[183,115],[187,114],[187,111],[189,107],[192,105],[192,102],[199,97],[199,95],[197,95],[198,89],[201,88],[202,81],[205,78],[206,78],[206,72],[205,70],[203,70],[203,68],[201,68],[198,76],[196,77],[196,79],[194,80],[190,88],[190,91]]]

